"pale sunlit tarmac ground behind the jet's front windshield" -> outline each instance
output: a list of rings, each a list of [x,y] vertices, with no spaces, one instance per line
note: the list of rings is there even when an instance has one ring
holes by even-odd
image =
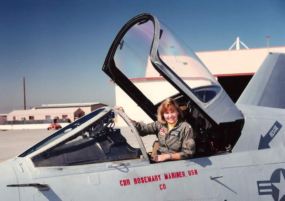
[[[130,130],[130,128],[122,127],[121,133],[124,135],[124,132],[126,130]],[[26,151],[31,146],[35,145],[36,143],[53,134],[54,132],[56,131],[47,129],[0,131],[0,162],[16,157],[17,155]],[[130,132],[128,132],[127,134],[128,136],[129,133]],[[146,151],[150,152],[152,150],[152,145],[155,138],[155,135],[148,135],[142,137]]]

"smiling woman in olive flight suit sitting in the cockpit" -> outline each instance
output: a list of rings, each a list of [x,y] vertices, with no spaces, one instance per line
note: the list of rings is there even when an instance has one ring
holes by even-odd
[[[124,111],[122,107],[115,109]],[[157,121],[149,124],[132,123],[140,136],[158,136],[159,149],[156,151],[154,161],[184,160],[195,153],[194,131],[190,124],[183,121],[183,112],[175,99],[168,98],[158,108]]]

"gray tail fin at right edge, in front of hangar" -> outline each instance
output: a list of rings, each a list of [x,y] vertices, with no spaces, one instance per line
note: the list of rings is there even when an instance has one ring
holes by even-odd
[[[269,53],[237,104],[285,108],[285,54]]]

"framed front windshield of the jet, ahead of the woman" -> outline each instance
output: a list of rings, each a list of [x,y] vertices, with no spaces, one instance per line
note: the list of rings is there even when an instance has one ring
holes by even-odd
[[[142,159],[143,154],[132,128],[117,127],[118,118],[126,120],[116,110],[98,109],[89,117],[82,118],[53,133],[19,157],[25,157],[53,144],[31,157],[35,167],[73,166],[103,162]],[[91,118],[91,119],[88,119]]]

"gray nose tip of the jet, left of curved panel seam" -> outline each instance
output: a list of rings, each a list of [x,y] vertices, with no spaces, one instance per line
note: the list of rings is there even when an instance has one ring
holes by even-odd
[[[0,200],[19,200],[19,187],[7,187],[10,184],[18,184],[13,167],[0,165]]]

